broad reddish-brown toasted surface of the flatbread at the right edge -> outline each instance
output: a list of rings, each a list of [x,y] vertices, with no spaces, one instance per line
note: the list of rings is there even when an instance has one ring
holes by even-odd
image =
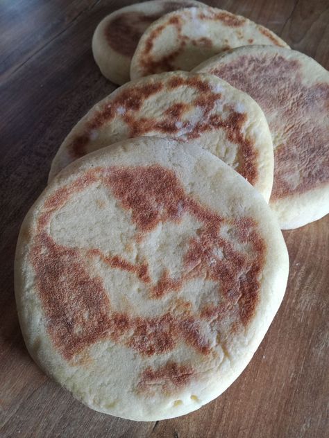
[[[212,73],[248,93],[267,116],[275,147],[271,200],[328,182],[328,83],[307,87],[300,62],[278,54],[241,55]]]

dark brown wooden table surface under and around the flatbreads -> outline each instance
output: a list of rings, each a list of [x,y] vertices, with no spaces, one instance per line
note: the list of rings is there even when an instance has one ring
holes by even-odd
[[[199,411],[153,423],[93,412],[44,376],[26,352],[13,293],[19,226],[46,185],[51,159],[67,132],[115,89],[94,64],[91,39],[102,17],[128,3],[0,3],[0,436],[325,437],[329,217],[284,233],[291,270],[278,315],[242,376]],[[328,1],[206,3],[268,26],[328,68]]]

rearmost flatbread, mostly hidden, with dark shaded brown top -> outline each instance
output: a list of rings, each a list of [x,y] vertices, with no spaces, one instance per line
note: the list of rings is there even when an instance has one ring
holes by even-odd
[[[112,12],[92,37],[92,53],[101,73],[115,84],[128,82],[131,58],[146,28],[167,12],[201,5],[194,0],[153,0]]]

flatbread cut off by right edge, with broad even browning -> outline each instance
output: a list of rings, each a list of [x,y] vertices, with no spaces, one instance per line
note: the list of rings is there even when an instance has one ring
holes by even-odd
[[[196,67],[250,94],[264,110],[274,148],[271,207],[282,229],[329,212],[329,73],[298,51],[248,46]]]

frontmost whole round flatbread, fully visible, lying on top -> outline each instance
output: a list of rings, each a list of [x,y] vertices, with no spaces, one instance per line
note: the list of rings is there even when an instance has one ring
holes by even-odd
[[[287,273],[258,191],[210,152],[147,137],[51,182],[19,234],[15,291],[28,351],[47,374],[94,410],[153,421],[233,383]]]

